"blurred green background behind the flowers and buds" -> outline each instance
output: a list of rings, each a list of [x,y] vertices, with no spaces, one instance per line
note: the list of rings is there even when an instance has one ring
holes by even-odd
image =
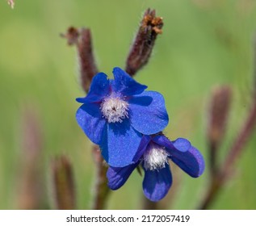
[[[206,159],[197,179],[178,173],[178,190],[170,208],[194,209],[208,188],[206,122],[212,87],[233,87],[232,111],[219,161],[223,161],[250,107],[253,89],[254,0],[44,0],[15,1],[11,10],[0,1],[0,208],[22,207],[21,185],[29,151],[24,150],[26,115],[38,119],[42,148],[36,164],[40,208],[54,208],[51,161],[65,154],[73,164],[78,209],[89,209],[93,197],[94,164],[91,143],[78,128],[75,112],[83,96],[75,48],[59,34],[67,27],[90,27],[99,69],[109,75],[124,68],[129,45],[146,8],[164,18],[149,65],[137,81],[166,98],[173,140],[186,137]],[[27,113],[29,112],[29,113]],[[25,116],[24,116],[25,115]],[[34,115],[34,116],[33,116]],[[35,116],[36,115],[36,116]],[[30,116],[28,116],[29,118]],[[221,190],[212,209],[256,208],[256,134],[237,161],[233,178]],[[39,170],[38,170],[39,169]],[[111,193],[107,208],[141,208],[142,178],[132,174]],[[27,187],[29,190],[30,187]],[[170,189],[170,193],[172,190]],[[121,201],[120,201],[121,200]]]

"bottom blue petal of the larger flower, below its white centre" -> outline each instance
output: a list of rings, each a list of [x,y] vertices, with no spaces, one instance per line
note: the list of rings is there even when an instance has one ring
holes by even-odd
[[[141,142],[141,133],[134,130],[128,119],[122,123],[107,123],[107,134],[100,145],[104,159],[113,167],[134,163],[133,158]]]

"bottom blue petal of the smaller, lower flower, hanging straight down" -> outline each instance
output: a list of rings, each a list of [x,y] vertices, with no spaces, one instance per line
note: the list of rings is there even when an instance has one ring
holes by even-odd
[[[157,202],[163,199],[172,184],[172,176],[170,166],[166,163],[166,167],[161,170],[145,170],[143,180],[144,195],[151,201]]]

